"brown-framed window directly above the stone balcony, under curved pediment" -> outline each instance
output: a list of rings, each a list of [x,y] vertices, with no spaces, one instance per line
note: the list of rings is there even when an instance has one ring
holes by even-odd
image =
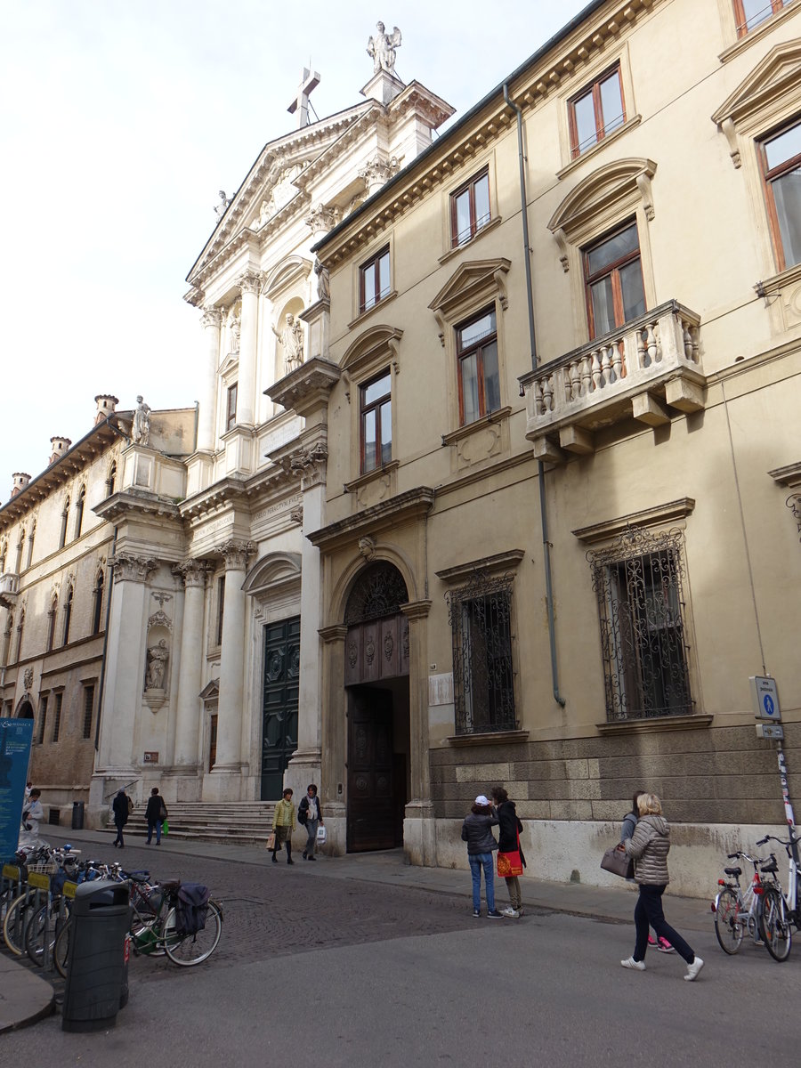
[[[590,336],[600,337],[645,312],[637,222],[584,250]]]

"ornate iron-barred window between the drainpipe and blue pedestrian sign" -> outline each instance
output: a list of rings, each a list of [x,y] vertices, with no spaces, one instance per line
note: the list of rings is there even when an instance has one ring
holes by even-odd
[[[693,711],[680,531],[626,531],[587,553],[598,597],[607,719]]]

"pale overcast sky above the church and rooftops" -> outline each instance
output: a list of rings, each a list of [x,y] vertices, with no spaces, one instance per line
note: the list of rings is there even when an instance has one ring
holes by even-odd
[[[0,501],[98,393],[197,399],[185,278],[264,144],[358,104],[381,19],[395,73],[464,114],[586,0],[0,0]]]

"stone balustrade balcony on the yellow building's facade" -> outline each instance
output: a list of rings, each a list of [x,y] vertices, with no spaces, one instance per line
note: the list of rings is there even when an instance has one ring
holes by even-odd
[[[701,318],[672,300],[520,377],[537,459],[595,450],[594,431],[626,420],[670,423],[704,407]],[[674,412],[675,413],[675,412]]]

